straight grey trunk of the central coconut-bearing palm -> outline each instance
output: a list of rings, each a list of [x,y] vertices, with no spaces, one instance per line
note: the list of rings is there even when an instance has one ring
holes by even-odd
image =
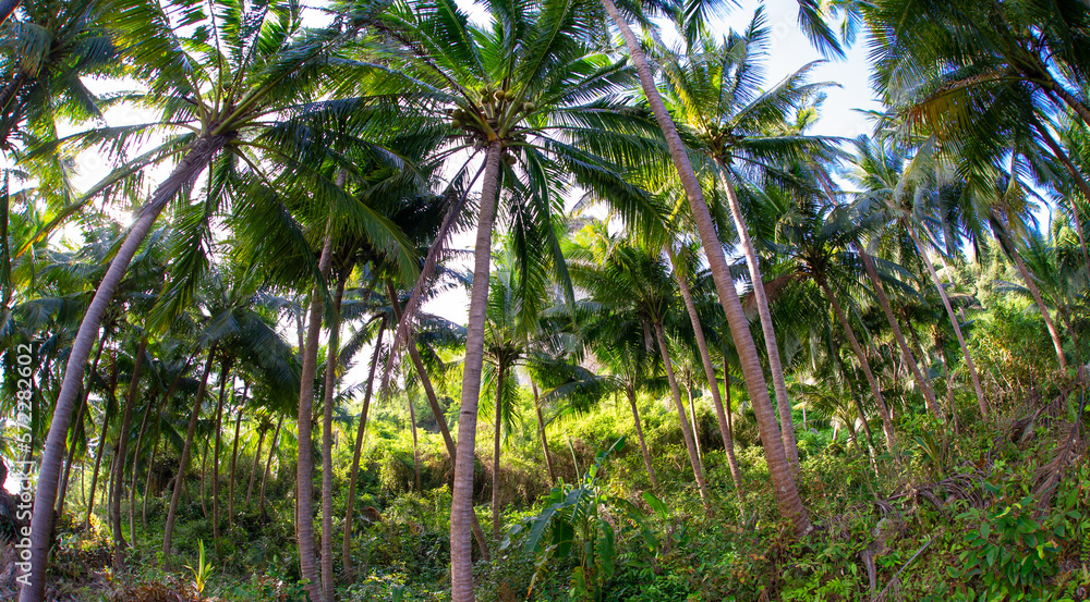
[[[476,445],[477,396],[484,364],[484,324],[488,307],[488,275],[492,263],[492,234],[499,197],[499,163],[504,145],[488,145],[473,259],[473,292],[465,329],[465,359],[462,372],[461,410],[455,455],[455,487],[450,504],[450,597],[452,602],[473,602],[473,556],[470,524],[473,514],[473,464]]]

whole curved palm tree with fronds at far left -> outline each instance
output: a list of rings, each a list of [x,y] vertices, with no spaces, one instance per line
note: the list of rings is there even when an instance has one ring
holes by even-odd
[[[187,9],[184,30],[189,35],[216,32],[210,41],[192,40],[193,45],[182,39],[181,29],[174,27],[158,3],[137,3],[118,13],[113,21],[120,41],[131,49],[129,60],[134,66],[130,75],[135,81],[150,83],[146,99],[162,108],[164,119],[152,125],[96,131],[82,135],[80,142],[122,149],[161,123],[174,125],[185,133],[168,138],[156,150],[126,163],[92,191],[109,188],[140,173],[153,161],[180,157],[170,175],[137,211],[76,334],[43,453],[41,479],[35,496],[35,505],[39,508],[51,508],[56,501],[69,419],[78,396],[84,367],[98,339],[102,316],[130,261],[166,205],[187,191],[205,168],[217,160],[232,163],[232,158],[238,158],[242,163],[256,165],[261,159],[255,153],[262,153],[294,169],[310,171],[305,161],[295,161],[278,150],[280,145],[276,142],[296,131],[307,111],[286,120],[270,122],[270,118],[292,108],[324,109],[322,103],[316,107],[301,102],[314,98],[314,88],[325,82],[324,75],[331,75],[330,50],[338,41],[337,36],[303,28],[302,9],[296,3],[277,2],[249,9],[221,2],[209,9],[215,14],[206,13],[203,5]],[[218,21],[221,16],[243,26],[225,27]],[[197,22],[205,22],[208,27],[192,26]],[[138,44],[130,45],[130,40]],[[186,48],[204,51],[190,54]],[[201,64],[202,69],[193,70],[194,64]],[[370,66],[353,61],[337,61],[336,64],[341,76],[353,70],[370,71]],[[255,170],[255,173],[263,171]],[[377,224],[371,222],[370,225]],[[22,602],[39,602],[43,598],[51,525],[51,512],[34,513],[31,533],[34,569],[29,586],[22,590]]]

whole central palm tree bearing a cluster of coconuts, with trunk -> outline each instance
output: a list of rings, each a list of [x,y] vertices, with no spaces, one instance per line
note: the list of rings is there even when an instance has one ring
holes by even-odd
[[[592,189],[610,187],[633,214],[645,196],[601,155],[634,158],[651,146],[609,135],[622,126],[633,130],[626,125],[630,110],[607,96],[620,91],[629,72],[588,46],[586,4],[497,0],[486,7],[493,23],[484,27],[472,25],[451,0],[398,4],[376,25],[408,50],[396,65],[401,85],[436,114],[449,111],[459,136],[452,150],[475,148],[485,155],[451,504],[451,597],[458,602],[473,600],[473,457],[500,191],[508,191],[512,222],[525,224],[518,230],[534,235],[517,243],[519,260],[528,266],[536,260],[546,273],[562,274],[552,229],[553,191],[572,181]]]

